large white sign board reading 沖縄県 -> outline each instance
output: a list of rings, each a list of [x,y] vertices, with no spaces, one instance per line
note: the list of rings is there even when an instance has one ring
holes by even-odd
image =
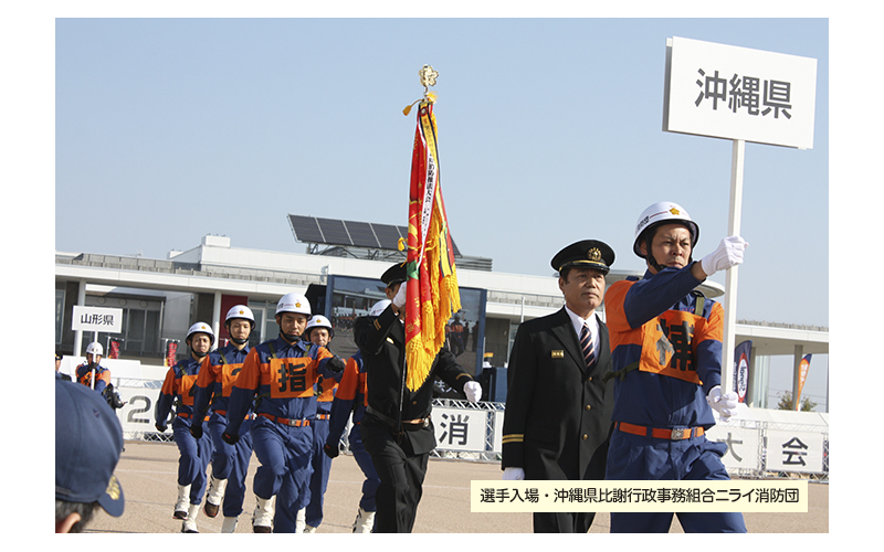
[[[813,147],[817,60],[674,36],[663,130]]]

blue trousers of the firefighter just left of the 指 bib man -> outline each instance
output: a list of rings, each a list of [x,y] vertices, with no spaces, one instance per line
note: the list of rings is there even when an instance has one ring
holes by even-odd
[[[252,459],[252,421],[246,420],[240,426],[240,440],[229,445],[221,438],[228,427],[228,418],[213,413],[209,418],[209,431],[214,444],[212,455],[212,475],[215,479],[227,479],[224,503],[221,508],[225,518],[235,518],[242,513],[242,502],[245,499],[245,476],[249,473],[249,461]]]

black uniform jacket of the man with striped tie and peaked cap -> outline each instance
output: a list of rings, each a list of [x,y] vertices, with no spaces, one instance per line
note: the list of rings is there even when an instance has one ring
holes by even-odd
[[[613,427],[613,384],[608,328],[599,320],[591,371],[568,314],[519,326],[507,370],[502,468],[526,479],[604,479]]]

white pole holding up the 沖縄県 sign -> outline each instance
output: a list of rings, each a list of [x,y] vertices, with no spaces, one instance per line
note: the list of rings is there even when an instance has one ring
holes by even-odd
[[[739,220],[743,212],[743,164],[746,157],[746,141],[734,140],[730,155],[730,213],[727,221],[727,235],[739,235]],[[722,393],[734,391],[734,350],[736,349],[737,323],[737,269],[727,269],[725,279],[725,329],[722,339]]]

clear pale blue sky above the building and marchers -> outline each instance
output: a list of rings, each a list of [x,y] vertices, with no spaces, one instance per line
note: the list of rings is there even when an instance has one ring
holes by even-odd
[[[406,224],[402,108],[431,64],[462,253],[549,275],[599,238],[639,270],[632,229],[670,200],[699,223],[699,257],[727,231],[732,141],[662,130],[671,36],[818,60],[813,148],[746,146],[737,318],[829,326],[828,295],[808,300],[828,270],[794,269],[829,264],[825,19],[57,19],[56,222],[95,216],[56,223],[55,248],[165,258],[219,234],[303,252],[288,213]],[[813,364],[822,402],[828,357]]]

